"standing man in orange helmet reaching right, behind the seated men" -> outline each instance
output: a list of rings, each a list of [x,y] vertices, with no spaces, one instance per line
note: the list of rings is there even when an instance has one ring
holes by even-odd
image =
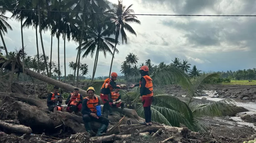
[[[108,112],[111,113],[111,109],[109,106],[109,100],[108,100],[108,96],[110,94],[111,96],[111,92],[115,89],[121,89],[120,86],[116,85],[116,80],[117,80],[117,73],[116,72],[112,72],[111,73],[111,78],[107,78],[104,80],[103,85],[101,86],[100,89],[100,98],[103,102],[103,114],[105,114],[105,117],[108,117]],[[106,111],[106,113],[105,113]]]

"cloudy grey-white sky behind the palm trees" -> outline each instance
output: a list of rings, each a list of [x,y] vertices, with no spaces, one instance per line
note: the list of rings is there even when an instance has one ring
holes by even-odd
[[[109,0],[117,3],[117,0]],[[256,15],[256,0],[123,0],[136,14],[207,14],[207,15]],[[11,16],[10,13],[7,16]],[[112,71],[120,73],[121,63],[129,53],[137,55],[138,64],[151,59],[154,65],[170,63],[175,57],[187,59],[202,71],[227,71],[256,67],[256,17],[186,17],[138,15],[141,25],[131,24],[137,37],[128,34],[128,44],[117,46]],[[4,40],[8,51],[22,46],[20,23],[8,20],[13,30]],[[24,45],[28,55],[35,55],[35,29],[25,28]],[[128,32],[127,32],[128,33]],[[42,53],[38,33],[39,52]],[[50,31],[43,33],[46,55],[50,56]],[[2,43],[1,43],[2,45]],[[58,61],[57,38],[53,40],[53,60]],[[64,41],[60,40],[60,64],[64,71]],[[69,62],[76,60],[74,42],[66,42],[67,74]],[[94,57],[95,58],[95,57]],[[82,59],[89,65],[92,75],[94,58]],[[181,60],[181,61],[182,61]],[[96,76],[109,73],[111,56],[105,59],[99,53]],[[64,75],[64,72],[62,72]]]

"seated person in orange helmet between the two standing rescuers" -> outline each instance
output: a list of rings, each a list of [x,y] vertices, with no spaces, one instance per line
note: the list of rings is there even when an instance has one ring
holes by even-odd
[[[120,85],[117,85],[118,87],[120,87]],[[114,92],[111,92],[111,94],[108,95],[108,99],[109,99],[109,105],[111,108],[119,108],[121,107],[121,112],[120,112],[120,116],[123,117],[124,116],[124,103],[121,102],[121,94],[119,93],[120,89],[115,89]],[[112,115],[112,113],[110,112],[109,115]]]

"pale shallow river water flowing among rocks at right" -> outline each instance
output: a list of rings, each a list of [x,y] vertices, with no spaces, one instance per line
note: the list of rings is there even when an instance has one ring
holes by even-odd
[[[223,98],[211,98],[211,96],[213,96],[217,92],[205,91],[205,93],[208,94],[209,96],[201,96],[201,97],[195,97],[195,98],[201,99],[202,97],[205,97],[207,100],[212,100],[212,101],[223,100]],[[185,97],[185,95],[182,95],[182,96]],[[249,112],[243,112],[243,113],[250,114],[250,115],[256,114],[256,102],[237,101],[237,100],[233,100],[233,101],[235,101],[237,106],[241,106],[241,107],[244,107],[247,110],[249,110]],[[256,126],[254,126],[253,123],[244,122],[240,117],[230,117],[230,118],[233,119],[234,121],[236,121],[236,123],[239,124],[238,126],[248,125],[250,127],[253,127],[256,130]],[[226,122],[226,123],[229,123],[231,125],[234,125],[233,122],[229,122],[229,121],[226,121],[226,120],[221,120],[219,118],[215,118],[215,119],[218,120],[218,121],[222,121],[222,122]]]

